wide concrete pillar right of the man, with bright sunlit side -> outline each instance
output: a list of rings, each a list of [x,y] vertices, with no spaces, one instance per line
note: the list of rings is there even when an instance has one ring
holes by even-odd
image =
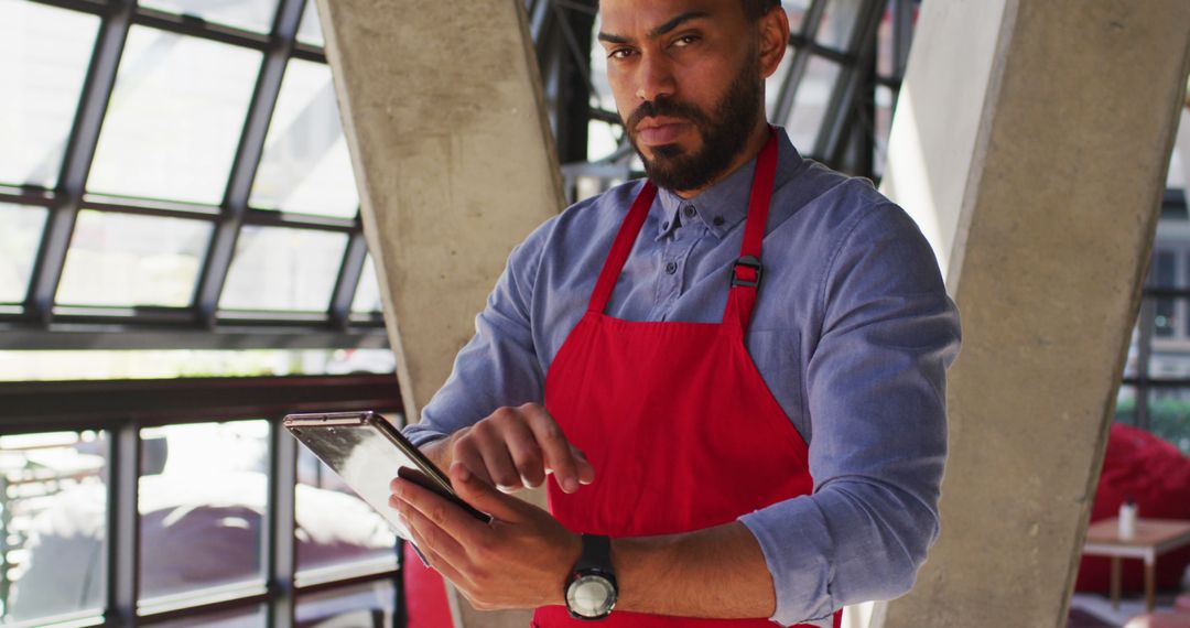
[[[1190,68],[1185,0],[922,5],[885,191],[963,315],[942,533],[887,627],[1065,626]]]

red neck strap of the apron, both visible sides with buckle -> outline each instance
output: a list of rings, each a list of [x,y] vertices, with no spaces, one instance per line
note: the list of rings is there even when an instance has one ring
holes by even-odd
[[[760,245],[764,240],[765,225],[769,221],[769,202],[772,199],[772,183],[777,176],[777,132],[770,127],[769,140],[760,149],[756,161],[756,174],[752,176],[752,193],[749,200],[747,219],[744,221],[744,243],[740,245],[740,258],[732,264],[731,290],[727,297],[727,310],[724,313],[724,322],[738,325],[741,331],[747,331],[747,322],[752,318],[752,308],[756,306],[756,293],[760,284],[763,269],[760,265]],[[595,290],[591,293],[588,312],[602,314],[607,309],[607,303],[612,299],[612,290],[624,270],[628,253],[637,241],[640,228],[649,218],[649,209],[657,197],[657,186],[652,181],[645,181],[644,187],[633,201],[628,215],[620,225],[620,231],[612,243],[612,251],[603,262],[603,270],[600,271],[595,282]]]

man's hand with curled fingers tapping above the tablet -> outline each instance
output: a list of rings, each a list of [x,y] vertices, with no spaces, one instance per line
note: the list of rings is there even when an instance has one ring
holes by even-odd
[[[553,473],[558,486],[575,492],[595,479],[595,469],[572,446],[550,413],[537,403],[500,408],[471,427],[422,447],[439,467],[462,463],[481,481],[505,492],[537,488]]]

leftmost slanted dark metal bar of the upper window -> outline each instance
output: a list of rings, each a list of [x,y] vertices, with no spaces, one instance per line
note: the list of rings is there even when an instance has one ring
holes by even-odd
[[[43,325],[49,325],[54,316],[54,295],[57,294],[75,219],[87,189],[87,175],[95,158],[104,115],[115,88],[115,74],[134,7],[133,0],[114,1],[104,15],[95,38],[95,50],[62,158],[56,199],[42,234],[25,299],[25,312]]]

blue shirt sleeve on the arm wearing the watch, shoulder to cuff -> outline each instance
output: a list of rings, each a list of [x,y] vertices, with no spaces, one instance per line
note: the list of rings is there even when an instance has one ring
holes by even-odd
[[[833,255],[806,371],[814,492],[740,517],[785,626],[906,594],[939,530],[958,313],[895,206],[859,214]]]

